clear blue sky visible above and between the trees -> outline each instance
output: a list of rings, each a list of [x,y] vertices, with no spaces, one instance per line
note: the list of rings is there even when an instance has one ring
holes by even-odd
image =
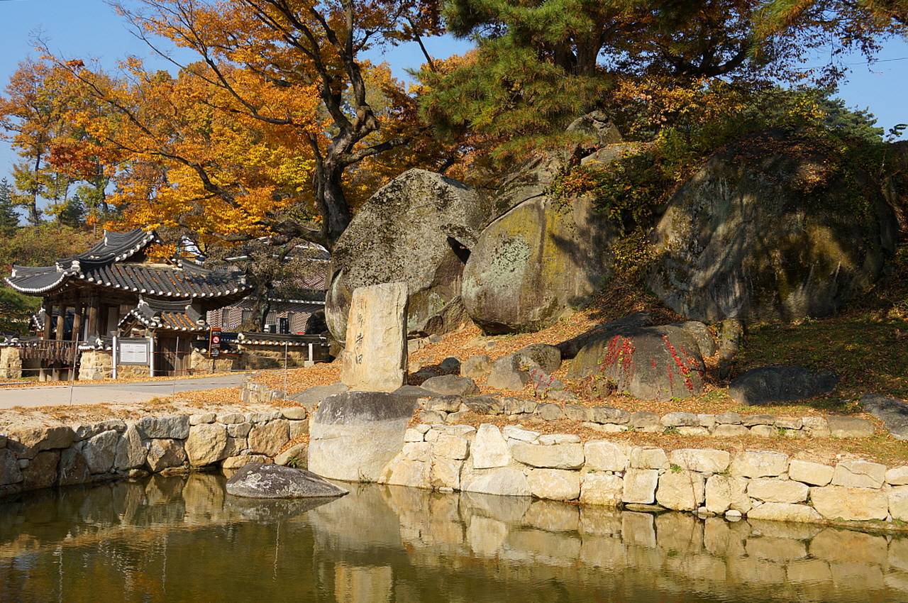
[[[124,4],[133,3],[127,0]],[[29,41],[35,34],[42,35],[55,54],[97,58],[109,69],[129,54],[142,56],[157,68],[169,66],[151,56],[148,47],[129,32],[128,25],[104,0],[0,0],[0,24],[0,88],[5,87],[20,61],[38,57]],[[469,47],[449,38],[429,40],[427,45],[437,58],[460,54]],[[403,76],[405,68],[419,66],[422,55],[414,43],[376,58],[388,61],[395,74]],[[877,125],[888,131],[895,124],[908,123],[908,44],[893,40],[878,58],[871,65],[860,56],[848,61],[853,73],[838,96],[850,108],[869,109]],[[15,153],[0,143],[0,178],[10,173],[14,162]]]

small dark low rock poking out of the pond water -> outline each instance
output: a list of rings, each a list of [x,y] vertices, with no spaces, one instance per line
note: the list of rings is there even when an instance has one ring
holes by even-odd
[[[251,499],[324,498],[348,492],[311,471],[263,463],[243,465],[227,480],[228,494]]]

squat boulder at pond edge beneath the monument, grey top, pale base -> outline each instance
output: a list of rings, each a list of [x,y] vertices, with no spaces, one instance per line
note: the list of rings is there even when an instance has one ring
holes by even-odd
[[[345,481],[378,481],[403,448],[415,400],[347,391],[321,402],[312,417],[309,469]]]

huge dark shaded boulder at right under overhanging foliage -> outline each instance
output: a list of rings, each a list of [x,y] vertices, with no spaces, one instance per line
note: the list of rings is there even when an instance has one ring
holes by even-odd
[[[893,252],[882,193],[779,130],[714,154],[656,226],[646,282],[696,321],[823,316],[866,292]]]

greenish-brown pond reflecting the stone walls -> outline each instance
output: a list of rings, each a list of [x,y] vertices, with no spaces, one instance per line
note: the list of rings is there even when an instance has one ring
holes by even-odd
[[[0,601],[905,601],[908,538],[350,484],[237,499],[210,474],[0,503]]]

